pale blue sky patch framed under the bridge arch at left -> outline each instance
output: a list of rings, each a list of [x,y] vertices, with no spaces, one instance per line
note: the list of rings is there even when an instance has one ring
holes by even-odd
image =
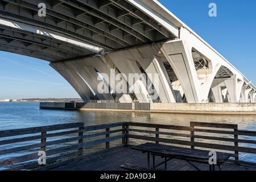
[[[0,100],[79,95],[47,61],[0,52]]]

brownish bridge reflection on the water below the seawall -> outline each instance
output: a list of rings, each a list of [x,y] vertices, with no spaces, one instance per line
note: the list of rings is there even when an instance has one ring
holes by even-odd
[[[166,113],[117,113],[77,111],[77,120],[86,126],[113,122],[146,122],[189,126],[189,122],[216,122],[237,124],[239,129],[256,130],[256,115],[204,115]]]

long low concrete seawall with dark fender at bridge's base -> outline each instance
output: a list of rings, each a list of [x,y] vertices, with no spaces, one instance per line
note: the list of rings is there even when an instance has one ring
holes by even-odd
[[[65,109],[87,111],[129,111],[148,113],[184,114],[241,114],[256,115],[256,103],[118,103],[118,102],[42,102],[40,109]]]

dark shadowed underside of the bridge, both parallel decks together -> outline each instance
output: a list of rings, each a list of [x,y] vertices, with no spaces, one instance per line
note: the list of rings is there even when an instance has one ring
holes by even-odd
[[[47,7],[46,17],[38,16],[38,5],[42,2]],[[177,30],[172,34],[126,1],[3,0],[0,2],[0,17],[3,51],[18,52],[49,61],[96,52],[105,53],[177,36],[173,35],[177,34]],[[3,20],[8,20],[14,26],[6,26]],[[31,34],[31,27],[36,27],[34,34]],[[42,32],[41,36],[38,31]],[[100,47],[101,50],[92,51],[67,45],[65,40],[61,42],[58,38],[47,36],[50,31]]]

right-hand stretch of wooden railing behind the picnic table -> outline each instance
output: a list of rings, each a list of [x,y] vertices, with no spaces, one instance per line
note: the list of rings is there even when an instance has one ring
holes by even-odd
[[[234,160],[229,162],[256,166],[256,163],[244,162],[239,158],[240,152],[256,154],[256,131],[238,130],[237,125],[208,122],[191,122],[190,126],[134,122],[126,125],[129,139],[232,152]],[[252,139],[242,138],[248,136]],[[254,145],[247,147],[245,144]]]

